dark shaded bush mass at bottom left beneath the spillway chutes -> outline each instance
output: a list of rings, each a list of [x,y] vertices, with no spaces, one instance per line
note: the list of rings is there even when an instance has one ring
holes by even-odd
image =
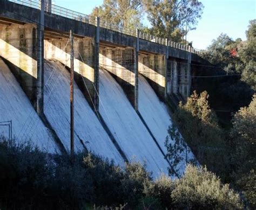
[[[81,209],[97,206],[137,206],[151,174],[139,163],[124,169],[112,161],[79,152],[48,155],[29,143],[0,141],[0,208]]]

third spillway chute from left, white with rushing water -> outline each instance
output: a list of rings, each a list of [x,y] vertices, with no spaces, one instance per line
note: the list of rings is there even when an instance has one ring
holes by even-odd
[[[127,158],[145,162],[154,176],[167,173],[168,163],[131,106],[122,87],[104,69],[100,69],[99,87],[99,111]]]

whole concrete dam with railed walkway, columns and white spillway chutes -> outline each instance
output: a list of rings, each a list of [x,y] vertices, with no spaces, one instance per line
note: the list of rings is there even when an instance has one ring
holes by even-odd
[[[70,151],[72,30],[75,150],[119,165],[145,163],[154,177],[167,174],[173,166],[165,158],[172,123],[166,104],[186,100],[191,64],[204,60],[169,40],[31,2],[0,2],[0,122],[12,121],[15,141],[29,140],[50,153]],[[0,134],[7,137],[8,129],[0,126]],[[184,169],[185,163],[174,167],[177,175]]]

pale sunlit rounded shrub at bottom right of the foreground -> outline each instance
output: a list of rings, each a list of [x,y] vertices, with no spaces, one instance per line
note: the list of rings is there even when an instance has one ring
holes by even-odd
[[[184,176],[175,181],[171,198],[178,208],[242,208],[239,194],[234,193],[228,184],[221,184],[220,179],[206,167],[192,165],[188,165]]]

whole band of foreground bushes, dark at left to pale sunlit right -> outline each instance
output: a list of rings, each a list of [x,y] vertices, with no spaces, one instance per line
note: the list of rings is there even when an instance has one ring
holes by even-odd
[[[0,154],[1,209],[241,208],[238,194],[201,167],[153,181],[139,163],[119,167],[92,153],[77,153],[71,164],[3,139]]]

